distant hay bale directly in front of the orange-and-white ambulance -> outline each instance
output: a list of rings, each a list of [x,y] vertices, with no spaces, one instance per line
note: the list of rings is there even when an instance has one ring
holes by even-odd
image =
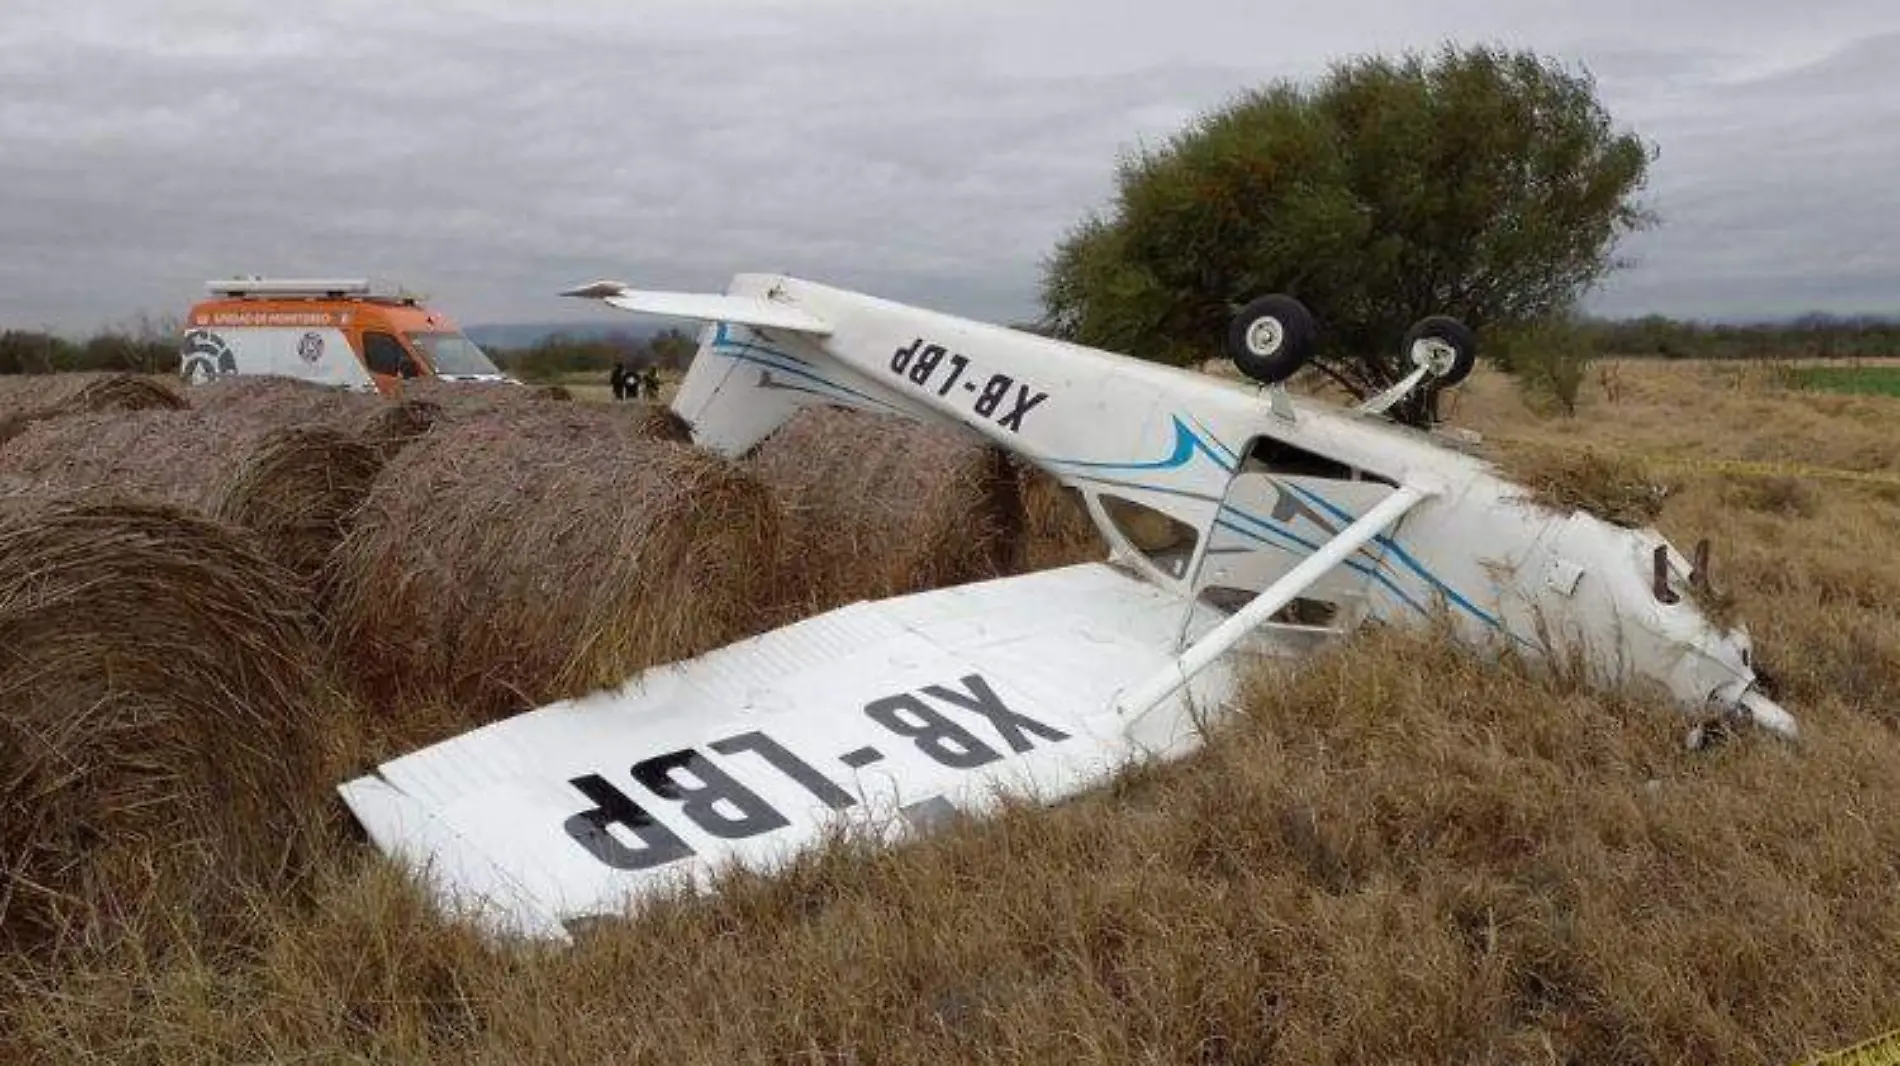
[[[276,374],[217,378],[188,390],[198,410],[238,414],[279,426],[331,426],[393,456],[441,418],[426,399],[388,399]]]

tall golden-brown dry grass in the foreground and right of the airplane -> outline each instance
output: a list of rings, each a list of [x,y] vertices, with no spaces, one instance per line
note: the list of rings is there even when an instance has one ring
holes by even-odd
[[[1704,395],[1695,374],[1638,367],[1619,410],[1586,384],[1577,420],[1543,422],[1480,372],[1455,416],[1558,452],[1700,433],[1847,464],[1892,445],[1877,422],[1900,401],[1834,424],[1826,397]],[[1814,420],[1828,437],[1807,439]],[[1691,752],[1668,707],[1368,635],[1258,676],[1180,764],[901,851],[838,846],[566,952],[484,944],[334,846],[294,893],[256,897],[243,954],[122,942],[17,969],[0,1051],[1784,1064],[1896,1028],[1900,494],[1674,471],[1655,521],[1714,538],[1799,745]]]

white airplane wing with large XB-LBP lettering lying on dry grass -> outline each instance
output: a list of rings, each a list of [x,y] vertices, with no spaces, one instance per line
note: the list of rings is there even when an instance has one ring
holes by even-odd
[[[1193,604],[1188,638],[1222,621]],[[386,762],[338,790],[439,903],[566,941],[730,863],[770,872],[834,827],[880,838],[1053,802],[1199,743],[1224,659],[1138,718],[1189,602],[1110,564],[857,602]],[[1267,637],[1248,652],[1275,652]]]

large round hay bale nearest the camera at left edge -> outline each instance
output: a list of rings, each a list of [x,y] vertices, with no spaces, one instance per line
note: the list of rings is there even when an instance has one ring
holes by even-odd
[[[217,927],[329,781],[287,570],[182,507],[0,496],[0,942]]]

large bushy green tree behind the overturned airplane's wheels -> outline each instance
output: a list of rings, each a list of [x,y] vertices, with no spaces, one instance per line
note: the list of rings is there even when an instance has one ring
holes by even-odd
[[[1186,365],[1241,304],[1290,293],[1319,319],[1315,363],[1370,395],[1410,371],[1400,340],[1427,314],[1486,331],[1569,308],[1653,222],[1634,201],[1651,158],[1588,72],[1535,53],[1353,59],[1123,158],[1112,211],[1045,264],[1045,327]]]

